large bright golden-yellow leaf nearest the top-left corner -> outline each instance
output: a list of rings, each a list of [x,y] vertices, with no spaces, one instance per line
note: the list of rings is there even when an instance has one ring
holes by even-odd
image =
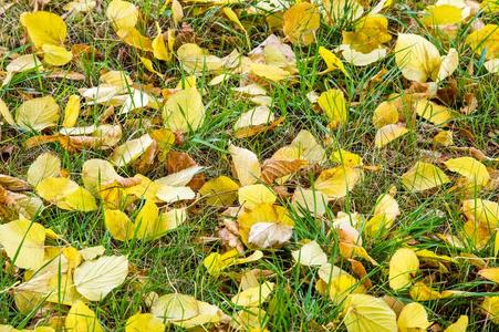
[[[64,43],[67,29],[60,15],[48,11],[23,12],[20,21],[35,48]]]

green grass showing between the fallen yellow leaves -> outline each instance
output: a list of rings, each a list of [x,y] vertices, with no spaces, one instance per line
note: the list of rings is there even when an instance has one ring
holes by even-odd
[[[19,15],[30,10],[27,1],[18,1],[7,13],[1,15],[0,45],[6,52],[0,52],[0,68],[9,63],[9,56],[14,53],[24,54],[29,46],[22,41],[22,27]],[[61,2],[61,3],[59,3]],[[51,1],[45,10],[62,13],[62,4],[67,1]],[[94,86],[98,83],[101,71],[123,70],[132,74],[134,83],[152,83],[154,86],[165,89],[174,87],[185,73],[177,61],[160,63],[155,61],[155,68],[165,74],[165,81],[148,73],[141,64],[139,53],[118,41],[105,18],[105,8],[108,1],[102,1],[98,11],[76,17],[69,17],[65,21],[69,27],[66,44],[84,43],[94,46],[100,56],[72,63],[67,70],[81,72],[85,81],[70,81],[64,79],[48,79],[37,72],[18,74],[11,83],[0,89],[0,97],[15,110],[24,96],[53,95],[61,106],[71,94],[77,94],[81,87]],[[170,10],[162,11],[164,1],[133,1],[142,10],[139,27],[143,32],[153,37],[154,22],[162,27],[169,27]],[[285,1],[289,3],[290,1]],[[427,1],[426,1],[427,2]],[[426,3],[425,2],[425,3]],[[414,32],[422,34],[434,42],[441,54],[454,46],[459,51],[459,68],[453,75],[457,86],[457,103],[449,106],[458,110],[460,100],[465,93],[474,93],[479,107],[469,115],[459,115],[453,122],[450,129],[454,133],[455,145],[460,147],[476,147],[491,158],[498,157],[498,93],[497,75],[487,73],[482,66],[484,60],[474,54],[465,44],[469,27],[462,27],[458,37],[450,42],[443,38],[435,38],[425,27],[418,22],[408,24],[409,20],[417,21],[415,9],[424,6],[417,1],[398,3],[385,13],[389,19],[389,32]],[[207,48],[212,54],[225,56],[232,49],[241,53],[248,53],[246,37],[240,30],[232,28],[217,7],[208,9],[200,15],[194,15],[194,9],[185,9],[185,22],[194,30],[196,42]],[[486,17],[488,23],[498,23],[497,15]],[[260,17],[241,15],[241,21],[251,37],[251,48],[257,46],[272,31],[264,24]],[[147,27],[147,28],[146,28]],[[207,117],[202,126],[190,135],[184,144],[174,147],[193,156],[199,165],[207,166],[206,177],[214,178],[219,175],[231,175],[231,160],[227,151],[229,143],[254,152],[261,160],[270,157],[277,149],[289,144],[300,129],[310,131],[323,143],[328,155],[341,147],[357,153],[363,157],[364,164],[380,166],[377,172],[366,172],[363,180],[345,198],[333,200],[328,207],[325,220],[318,220],[314,216],[305,214],[299,217],[289,200],[280,203],[290,209],[290,215],[295,222],[293,237],[289,245],[276,250],[264,251],[264,258],[250,263],[229,268],[218,279],[210,277],[202,266],[204,258],[212,252],[220,251],[219,241],[205,243],[202,238],[216,236],[219,224],[219,214],[222,209],[207,207],[202,200],[193,207],[188,221],[178,229],[168,232],[159,240],[143,242],[117,242],[112,239],[103,222],[103,209],[82,214],[70,212],[49,207],[34,218],[46,228],[53,229],[63,236],[64,241],[52,241],[52,245],[71,245],[82,249],[102,245],[106,253],[126,255],[131,262],[131,273],[126,282],[111,292],[104,300],[91,303],[102,324],[110,331],[124,331],[126,319],[138,311],[147,311],[146,297],[150,292],[162,295],[170,292],[191,294],[198,300],[217,304],[225,313],[236,312],[230,298],[238,291],[241,273],[250,269],[268,271],[269,280],[276,283],[276,289],[268,303],[267,328],[269,331],[339,331],[344,330],[341,323],[341,305],[331,302],[315,290],[319,280],[316,269],[297,266],[291,258],[291,250],[300,248],[303,239],[315,239],[328,253],[329,261],[345,270],[351,271],[347,260],[341,257],[337,237],[330,231],[331,220],[340,211],[356,211],[370,216],[376,198],[387,193],[391,186],[398,189],[396,199],[401,205],[402,215],[395,221],[389,232],[365,238],[364,248],[380,266],[373,266],[362,260],[367,277],[373,282],[370,294],[376,297],[392,295],[404,303],[412,301],[407,291],[394,292],[388,287],[388,261],[392,255],[401,246],[413,245],[413,248],[428,249],[439,255],[461,257],[462,252],[475,255],[485,259],[489,267],[496,266],[493,258],[493,243],[484,249],[476,249],[472,243],[465,242],[465,250],[446,245],[435,235],[450,232],[456,235],[461,231],[465,217],[460,212],[461,196],[450,190],[450,185],[430,194],[414,194],[405,191],[399,181],[399,176],[410,168],[416,160],[428,159],[438,162],[441,156],[456,157],[465,155],[460,151],[451,148],[438,148],[432,144],[436,133],[434,127],[423,125],[424,121],[415,120],[413,131],[392,143],[387,148],[374,148],[375,127],[372,125],[374,108],[392,93],[403,93],[408,86],[395,65],[393,54],[386,59],[365,68],[355,68],[345,64],[351,77],[345,77],[340,71],[320,75],[325,69],[318,54],[320,45],[334,49],[341,42],[341,31],[352,27],[349,22],[340,22],[336,25],[321,25],[318,31],[316,43],[306,48],[293,46],[297,54],[298,80],[294,84],[272,83],[269,95],[273,98],[272,111],[277,116],[283,116],[281,126],[266,134],[249,138],[237,139],[231,135],[231,127],[239,115],[254,105],[249,104],[236,94],[231,87],[238,86],[238,80],[230,80],[216,87],[209,86],[209,76],[198,77],[198,87],[202,89],[204,103]],[[280,32],[276,32],[280,33]],[[389,43],[391,45],[394,43]],[[474,68],[470,72],[469,68]],[[383,80],[368,89],[371,80],[382,71],[387,70]],[[321,93],[328,89],[341,89],[350,105],[349,125],[339,128],[328,128],[325,117],[314,110],[306,94],[310,91]],[[92,106],[89,116],[79,120],[79,125],[90,125],[98,122],[98,115],[104,107]],[[115,116],[114,122],[122,125],[132,118],[146,118],[158,116],[155,111],[145,113],[131,113],[125,117]],[[409,124],[409,123],[408,123]],[[19,178],[25,178],[30,164],[42,152],[54,152],[62,160],[62,167],[72,178],[80,181],[80,172],[83,163],[89,158],[106,158],[108,152],[83,151],[69,153],[59,144],[48,144],[32,149],[25,149],[22,142],[33,136],[33,133],[22,133],[3,125],[0,132],[0,148],[11,146],[13,153],[6,155],[6,160],[0,163],[0,174],[7,174]],[[464,134],[464,131],[468,134]],[[125,139],[136,138],[146,129],[143,126],[124,126]],[[429,157],[428,157],[429,155]],[[3,155],[2,155],[3,156]],[[497,167],[492,162],[486,162],[487,166]],[[331,166],[328,165],[326,166]],[[324,168],[326,168],[324,166]],[[444,167],[443,167],[444,168]],[[497,170],[496,170],[497,172]],[[133,176],[134,169],[125,168],[122,175]],[[149,174],[150,178],[165,175],[163,165],[154,165]],[[287,184],[293,187],[297,184],[310,184],[316,174],[313,170],[300,174],[299,177]],[[454,177],[456,178],[456,177]],[[497,175],[496,175],[497,178]],[[290,190],[291,191],[291,190]],[[480,193],[479,197],[498,200],[497,191]],[[3,220],[4,222],[7,220]],[[20,312],[14,303],[11,287],[22,279],[22,272],[8,269],[9,260],[0,255],[0,324],[11,324],[18,329],[33,328],[33,324],[43,324],[50,318],[65,315],[67,307],[49,304],[46,310],[28,313]],[[480,312],[479,304],[486,295],[499,295],[499,289],[493,282],[476,278],[477,268],[469,259],[459,259],[455,264],[448,264],[449,273],[438,273],[438,268],[423,264],[416,278],[423,281],[426,277],[433,279],[433,287],[439,290],[461,290],[472,292],[470,297],[451,298],[424,302],[429,313],[429,321],[445,328],[455,322],[459,315],[468,314],[468,331],[496,331],[497,325],[486,320]],[[180,331],[169,326],[171,331]]]

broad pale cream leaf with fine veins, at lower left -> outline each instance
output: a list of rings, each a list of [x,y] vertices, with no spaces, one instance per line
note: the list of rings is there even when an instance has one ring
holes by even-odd
[[[127,274],[128,259],[125,256],[103,256],[87,260],[74,270],[74,286],[87,300],[100,301],[121,286]]]

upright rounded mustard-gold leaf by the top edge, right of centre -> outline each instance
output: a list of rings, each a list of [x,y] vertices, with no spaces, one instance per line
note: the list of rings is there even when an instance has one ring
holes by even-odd
[[[319,8],[310,2],[300,2],[284,12],[282,30],[293,44],[309,45],[315,40],[321,15]]]

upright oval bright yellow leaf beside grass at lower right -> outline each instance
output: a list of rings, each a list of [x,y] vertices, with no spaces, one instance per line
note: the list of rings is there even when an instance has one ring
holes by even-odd
[[[409,286],[419,270],[416,253],[408,248],[401,248],[389,259],[389,288],[399,290]]]

